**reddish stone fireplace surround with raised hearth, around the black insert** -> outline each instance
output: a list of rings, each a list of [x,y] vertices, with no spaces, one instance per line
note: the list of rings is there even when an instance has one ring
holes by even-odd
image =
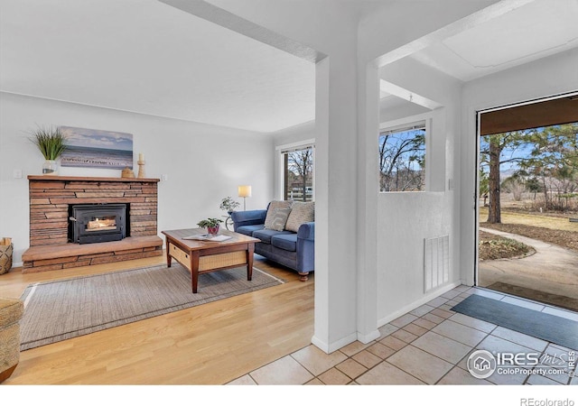
[[[23,273],[163,254],[157,235],[158,179],[40,175],[28,180],[30,248],[23,253]],[[69,205],[98,203],[129,203],[130,235],[107,243],[69,243]]]

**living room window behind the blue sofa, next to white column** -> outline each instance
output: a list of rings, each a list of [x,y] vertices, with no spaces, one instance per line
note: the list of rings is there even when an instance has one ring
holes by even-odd
[[[313,200],[313,152],[312,144],[281,151],[285,200]]]

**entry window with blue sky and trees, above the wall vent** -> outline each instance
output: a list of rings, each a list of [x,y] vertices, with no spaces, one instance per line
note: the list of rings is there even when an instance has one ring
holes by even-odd
[[[425,189],[425,121],[379,134],[379,191]]]

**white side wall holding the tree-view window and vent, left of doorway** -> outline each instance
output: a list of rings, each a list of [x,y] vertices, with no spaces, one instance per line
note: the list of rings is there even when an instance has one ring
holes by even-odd
[[[462,84],[407,58],[382,67],[380,78],[442,105],[417,116],[432,120],[426,141],[427,191],[376,191],[378,325],[383,325],[431,296],[432,292],[424,292],[424,238],[450,235],[450,279],[445,288],[460,283],[457,197],[448,185],[454,177],[454,144],[461,124]],[[408,123],[415,121],[414,111],[407,108]],[[403,120],[397,119],[395,124],[400,121]],[[391,124],[382,123],[382,126]],[[375,143],[377,145],[377,137]]]

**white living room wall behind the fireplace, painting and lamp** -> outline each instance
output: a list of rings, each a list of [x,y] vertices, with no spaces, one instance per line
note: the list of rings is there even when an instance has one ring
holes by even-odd
[[[29,242],[27,175],[42,173],[42,155],[28,141],[36,125],[70,125],[133,134],[135,161],[144,153],[149,178],[159,183],[159,233],[196,227],[205,217],[225,215],[221,198],[237,196],[249,184],[247,209],[264,208],[273,198],[274,149],[266,134],[232,130],[151,115],[0,93],[0,235],[14,239],[14,262]],[[135,173],[138,166],[135,164]],[[14,179],[13,171],[23,178]],[[61,168],[61,175],[113,176],[120,171]],[[161,235],[162,236],[162,235]]]

